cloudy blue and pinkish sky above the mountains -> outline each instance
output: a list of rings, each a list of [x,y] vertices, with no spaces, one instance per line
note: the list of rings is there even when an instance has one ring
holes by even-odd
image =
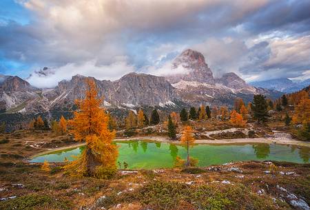
[[[53,87],[75,74],[163,72],[186,49],[214,76],[310,78],[309,0],[1,0],[0,74]],[[36,72],[49,67],[52,74]],[[31,75],[31,76],[30,76]]]

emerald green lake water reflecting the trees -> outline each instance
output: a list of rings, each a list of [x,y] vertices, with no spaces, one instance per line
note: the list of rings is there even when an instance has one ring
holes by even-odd
[[[118,161],[127,162],[130,169],[169,168],[174,165],[176,156],[186,158],[186,149],[181,145],[154,143],[141,140],[118,142]],[[65,158],[74,160],[84,147],[53,151],[37,156],[30,162],[61,162]],[[198,165],[223,164],[242,160],[278,160],[287,162],[309,162],[310,148],[294,145],[245,144],[245,145],[194,145],[189,149],[190,156],[198,158]]]

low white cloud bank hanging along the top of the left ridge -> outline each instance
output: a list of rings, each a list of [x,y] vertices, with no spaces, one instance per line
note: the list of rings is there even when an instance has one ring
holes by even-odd
[[[96,61],[87,61],[81,65],[69,63],[50,70],[50,74],[42,76],[33,72],[27,81],[34,87],[55,87],[61,80],[70,80],[72,76],[81,74],[93,76],[99,80],[116,80],[124,74],[134,72],[134,67],[124,61],[112,63],[111,65],[96,65]]]

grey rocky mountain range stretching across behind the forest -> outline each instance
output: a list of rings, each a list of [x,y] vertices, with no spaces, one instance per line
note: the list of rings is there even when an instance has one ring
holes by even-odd
[[[178,68],[183,73],[175,73]],[[180,109],[192,105],[227,105],[234,98],[251,101],[254,94],[277,98],[282,93],[251,86],[237,74],[230,72],[214,78],[213,72],[200,52],[185,50],[174,59],[172,74],[154,76],[130,73],[116,81],[99,81],[98,87],[103,105],[116,109],[157,107]],[[48,68],[36,72],[40,76],[51,74]],[[70,81],[60,81],[54,88],[39,89],[18,76],[0,76],[0,109],[2,113],[37,114],[42,112],[65,112],[74,109],[74,100],[83,98],[85,76],[72,76]]]

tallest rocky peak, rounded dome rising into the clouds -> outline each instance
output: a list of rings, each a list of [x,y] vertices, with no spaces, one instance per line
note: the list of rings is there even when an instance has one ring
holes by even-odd
[[[170,83],[179,81],[198,81],[200,83],[209,83],[214,85],[214,76],[205,63],[205,57],[200,52],[194,50],[185,50],[174,59],[172,70],[183,68],[183,73],[170,74],[166,76]]]

